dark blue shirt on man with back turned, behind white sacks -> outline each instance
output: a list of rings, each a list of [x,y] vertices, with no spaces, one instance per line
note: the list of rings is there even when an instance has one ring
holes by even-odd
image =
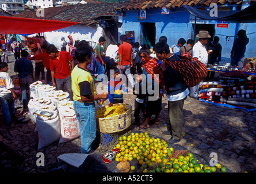
[[[18,78],[25,78],[34,71],[33,64],[26,57],[21,57],[14,64],[14,72],[18,72]]]

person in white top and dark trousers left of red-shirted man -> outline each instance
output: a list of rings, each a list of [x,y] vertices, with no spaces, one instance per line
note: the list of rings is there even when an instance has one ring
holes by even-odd
[[[118,46],[120,44],[110,44],[107,47],[106,50],[106,71],[107,71],[107,78],[110,79],[110,70],[114,69],[116,67],[117,62],[117,52],[118,52]]]

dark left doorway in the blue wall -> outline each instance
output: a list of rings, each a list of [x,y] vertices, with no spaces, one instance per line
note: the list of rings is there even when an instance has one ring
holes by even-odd
[[[149,44],[151,47],[155,46],[155,23],[143,22],[142,26],[143,44]]]

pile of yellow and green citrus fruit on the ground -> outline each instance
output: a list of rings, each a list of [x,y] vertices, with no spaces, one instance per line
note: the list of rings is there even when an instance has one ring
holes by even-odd
[[[116,155],[117,162],[138,160],[140,168],[147,172],[156,173],[214,173],[217,169],[227,172],[227,168],[199,164],[192,153],[186,156],[180,155],[178,159],[170,158],[173,148],[168,148],[165,140],[150,137],[147,132],[131,133],[128,136],[120,136],[119,142],[114,148],[120,149]],[[169,159],[168,159],[169,158]],[[154,166],[153,166],[154,165]],[[131,170],[135,170],[131,166]]]

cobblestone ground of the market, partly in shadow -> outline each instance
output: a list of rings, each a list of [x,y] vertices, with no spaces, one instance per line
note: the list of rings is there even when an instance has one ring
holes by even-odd
[[[15,75],[13,56],[10,56],[9,60],[9,73]],[[135,95],[124,95],[124,103],[132,105],[132,114],[134,99]],[[108,101],[104,104],[108,104]],[[169,140],[170,136],[162,134],[162,131],[166,130],[165,123],[168,122],[167,106],[165,95],[162,99],[160,124],[151,124],[150,128],[142,131]],[[18,117],[23,116],[21,110],[16,111]],[[209,158],[212,152],[216,152],[218,162],[235,173],[255,172],[255,112],[215,106],[190,97],[185,100],[183,112],[183,139],[177,144],[206,158]],[[130,128],[136,129],[133,119],[132,117]],[[57,156],[80,153],[80,145],[78,138],[61,144],[56,142],[38,150],[38,133],[35,132],[35,124],[29,121],[27,124],[14,124],[7,128],[3,124],[0,111],[0,172],[46,173],[50,166],[57,162]],[[36,166],[38,152],[44,154],[44,167]]]

